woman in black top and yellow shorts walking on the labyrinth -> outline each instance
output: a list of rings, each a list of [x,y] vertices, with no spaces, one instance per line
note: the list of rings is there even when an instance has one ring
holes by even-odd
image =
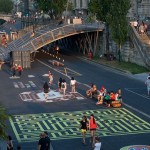
[[[80,122],[80,127],[81,127],[81,132],[82,132],[82,143],[86,144],[85,135],[86,135],[86,132],[88,130],[88,121],[87,121],[86,116],[83,116],[83,119]]]

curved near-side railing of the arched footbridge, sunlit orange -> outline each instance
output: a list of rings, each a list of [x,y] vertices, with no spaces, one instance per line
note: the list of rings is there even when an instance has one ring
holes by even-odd
[[[29,49],[29,50],[37,50],[53,41],[56,41],[58,39],[68,37],[71,35],[84,33],[84,32],[92,32],[97,30],[103,30],[104,25],[103,24],[70,24],[65,25],[62,27],[57,27],[53,30],[49,30],[46,33],[43,33],[42,35],[35,37],[33,40],[29,41],[25,45],[23,45],[21,48]],[[32,46],[30,46],[32,45]]]

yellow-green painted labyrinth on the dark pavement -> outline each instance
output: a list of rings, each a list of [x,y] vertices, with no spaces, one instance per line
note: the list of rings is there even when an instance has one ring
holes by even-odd
[[[101,137],[150,133],[150,124],[125,108],[15,115],[10,123],[18,142],[37,141],[43,131],[48,131],[52,140],[72,139],[81,138],[81,118],[91,114]]]

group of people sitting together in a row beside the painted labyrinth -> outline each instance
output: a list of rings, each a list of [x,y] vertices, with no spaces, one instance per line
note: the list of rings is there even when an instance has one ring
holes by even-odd
[[[120,101],[122,102],[122,93],[121,89],[119,88],[117,92],[111,91],[107,92],[104,86],[101,87],[100,90],[97,89],[95,84],[92,84],[91,89],[86,91],[88,97],[96,97],[97,103],[99,104],[106,104],[107,107],[110,107],[112,101]]]

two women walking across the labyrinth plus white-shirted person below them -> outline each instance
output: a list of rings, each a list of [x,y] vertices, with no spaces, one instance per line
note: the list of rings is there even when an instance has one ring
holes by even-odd
[[[86,144],[86,132],[90,131],[90,143],[94,150],[101,149],[101,142],[98,136],[96,136],[96,130],[98,125],[96,123],[95,117],[91,114],[90,119],[88,120],[86,116],[83,116],[82,120],[80,121],[80,128],[82,133],[82,143]]]

